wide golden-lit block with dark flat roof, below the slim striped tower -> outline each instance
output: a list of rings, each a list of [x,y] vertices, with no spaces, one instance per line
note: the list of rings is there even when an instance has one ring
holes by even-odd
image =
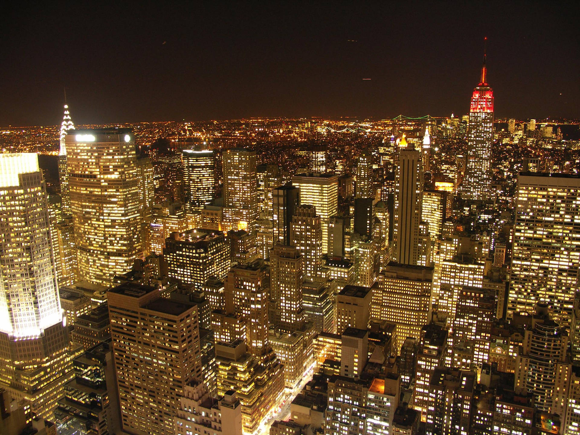
[[[433,267],[389,263],[374,288],[371,318],[397,325],[397,354],[409,337],[419,340],[431,322]]]

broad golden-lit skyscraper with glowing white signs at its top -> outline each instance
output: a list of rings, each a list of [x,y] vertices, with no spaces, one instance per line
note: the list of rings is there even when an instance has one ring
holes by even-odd
[[[135,137],[131,129],[77,130],[66,148],[79,274],[110,284],[143,253]]]

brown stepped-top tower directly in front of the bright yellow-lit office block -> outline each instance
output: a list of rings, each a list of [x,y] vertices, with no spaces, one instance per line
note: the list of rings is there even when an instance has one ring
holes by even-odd
[[[291,245],[303,256],[304,277],[317,277],[323,260],[321,218],[316,208],[298,206],[290,225]]]

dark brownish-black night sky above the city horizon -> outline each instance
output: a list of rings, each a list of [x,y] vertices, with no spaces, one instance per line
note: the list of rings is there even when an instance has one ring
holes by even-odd
[[[496,117],[580,118],[579,2],[158,3],[3,9],[0,126],[465,114],[485,36]]]

